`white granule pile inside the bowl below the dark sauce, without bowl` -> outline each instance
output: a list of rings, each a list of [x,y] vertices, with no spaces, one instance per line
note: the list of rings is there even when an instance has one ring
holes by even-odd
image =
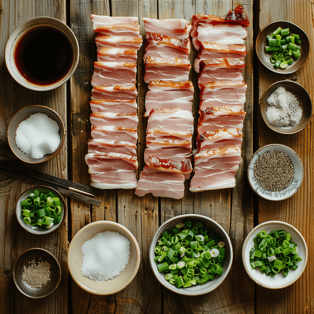
[[[34,159],[53,153],[60,141],[58,123],[44,113],[31,115],[16,130],[17,147]]]

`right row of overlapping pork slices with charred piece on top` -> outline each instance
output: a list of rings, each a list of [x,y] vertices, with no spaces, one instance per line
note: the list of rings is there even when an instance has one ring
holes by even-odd
[[[192,42],[198,50],[194,69],[200,88],[192,192],[230,188],[236,184],[246,114],[247,86],[242,70],[247,26],[249,22],[241,6],[225,17],[195,14],[192,18]]]

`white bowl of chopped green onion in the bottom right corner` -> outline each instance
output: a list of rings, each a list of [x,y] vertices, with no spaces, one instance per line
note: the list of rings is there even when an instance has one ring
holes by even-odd
[[[242,248],[246,273],[258,285],[280,289],[302,275],[307,262],[307,246],[300,231],[283,221],[257,225]]]

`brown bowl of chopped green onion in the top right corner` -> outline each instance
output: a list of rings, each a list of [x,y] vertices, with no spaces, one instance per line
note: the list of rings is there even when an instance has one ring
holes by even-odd
[[[276,21],[261,30],[256,40],[259,60],[269,70],[288,74],[305,64],[310,41],[305,31],[289,21]]]

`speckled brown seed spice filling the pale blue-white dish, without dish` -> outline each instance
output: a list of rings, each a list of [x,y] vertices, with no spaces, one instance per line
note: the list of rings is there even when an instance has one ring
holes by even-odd
[[[258,156],[254,168],[257,183],[267,191],[282,191],[294,178],[294,167],[289,156],[277,150],[269,150]]]

